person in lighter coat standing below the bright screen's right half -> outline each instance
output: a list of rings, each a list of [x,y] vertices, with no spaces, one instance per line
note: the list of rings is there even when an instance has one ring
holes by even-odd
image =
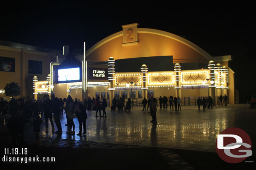
[[[66,103],[66,117],[68,120],[68,131],[67,134],[75,134],[75,124],[74,124],[74,108],[73,108],[74,104],[73,104],[73,99],[71,96],[67,97],[67,103]],[[72,127],[73,127],[73,131],[72,131]]]

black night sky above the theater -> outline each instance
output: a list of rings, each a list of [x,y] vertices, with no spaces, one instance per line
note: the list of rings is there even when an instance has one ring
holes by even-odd
[[[83,49],[84,41],[89,49],[130,23],[185,36],[212,56],[232,55],[230,68],[236,73],[235,86],[241,100],[256,93],[256,27],[250,4],[22,4],[2,7],[0,14],[0,40],[60,51],[64,45],[71,51]]]

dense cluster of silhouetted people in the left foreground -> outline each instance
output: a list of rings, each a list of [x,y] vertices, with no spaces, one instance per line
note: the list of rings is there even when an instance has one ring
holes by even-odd
[[[88,108],[87,106],[84,107],[84,104],[81,101],[77,99],[73,100],[71,96],[68,96],[67,99],[64,98],[63,100],[55,97],[55,94],[51,94],[51,99],[49,95],[45,95],[44,99],[40,100],[29,99],[25,101],[25,99],[19,98],[11,99],[7,102],[1,99],[0,104],[0,113],[11,115],[7,127],[12,136],[14,145],[25,143],[24,127],[26,124],[33,126],[36,141],[39,143],[40,125],[43,122],[42,116],[45,119],[45,133],[48,133],[48,121],[50,120],[52,133],[61,134],[63,131],[62,124],[60,123],[60,115],[63,114],[63,110],[65,110],[66,113],[67,124],[65,125],[68,126],[67,134],[75,134],[75,124],[73,122],[74,115],[76,115],[79,122],[79,133],[77,135],[86,134],[86,109]],[[54,118],[57,127],[56,132],[52,117]],[[84,130],[83,133],[82,130]]]

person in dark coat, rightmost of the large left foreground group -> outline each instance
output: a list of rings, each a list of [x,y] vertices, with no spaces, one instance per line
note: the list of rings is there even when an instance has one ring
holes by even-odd
[[[83,104],[80,104],[78,101],[75,101],[74,106],[75,106],[76,117],[77,117],[78,122],[79,122],[79,133],[77,135],[80,136],[82,134],[86,134],[87,114],[86,114],[86,109],[85,109]],[[84,132],[83,133],[82,133],[82,127],[84,127]]]

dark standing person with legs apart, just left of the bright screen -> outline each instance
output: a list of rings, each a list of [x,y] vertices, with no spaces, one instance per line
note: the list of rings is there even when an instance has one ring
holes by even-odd
[[[45,133],[48,133],[48,119],[50,119],[52,125],[52,133],[54,132],[54,124],[52,121],[52,101],[50,96],[47,94],[44,101],[44,119],[45,119]]]

